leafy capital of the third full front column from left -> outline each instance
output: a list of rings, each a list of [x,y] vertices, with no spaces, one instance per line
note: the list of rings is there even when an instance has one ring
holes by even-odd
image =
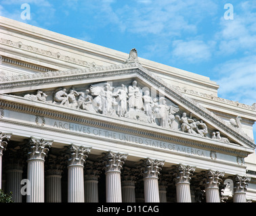
[[[106,171],[121,171],[126,159],[127,154],[113,153],[109,151],[108,153],[104,154]]]

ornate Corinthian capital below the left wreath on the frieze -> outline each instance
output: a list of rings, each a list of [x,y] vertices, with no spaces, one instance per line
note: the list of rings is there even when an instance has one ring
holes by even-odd
[[[51,147],[52,142],[52,140],[37,139],[31,136],[28,142],[28,160],[44,160],[45,156],[49,151],[49,148]]]

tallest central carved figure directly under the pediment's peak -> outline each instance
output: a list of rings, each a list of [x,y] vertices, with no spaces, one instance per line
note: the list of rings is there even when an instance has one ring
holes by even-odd
[[[129,109],[138,109],[142,110],[143,101],[142,101],[142,92],[140,92],[140,88],[137,87],[137,81],[133,81],[132,85],[128,88],[128,96],[129,96]]]

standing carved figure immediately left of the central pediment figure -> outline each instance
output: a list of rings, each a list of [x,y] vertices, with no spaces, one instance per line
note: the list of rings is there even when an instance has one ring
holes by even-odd
[[[118,103],[117,105],[117,110],[116,114],[121,116],[125,116],[125,113],[127,112],[127,88],[125,87],[124,84],[121,85],[121,88],[119,88],[116,92],[116,102]]]

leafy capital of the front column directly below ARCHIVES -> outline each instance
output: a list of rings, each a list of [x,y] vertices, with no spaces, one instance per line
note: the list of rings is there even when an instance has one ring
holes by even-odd
[[[83,165],[90,152],[90,147],[70,144],[66,154],[68,165]]]

